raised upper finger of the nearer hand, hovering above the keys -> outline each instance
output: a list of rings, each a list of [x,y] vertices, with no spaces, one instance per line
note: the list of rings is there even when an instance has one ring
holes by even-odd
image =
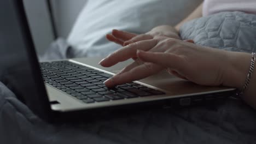
[[[129,58],[136,57],[137,50],[148,51],[152,49],[156,44],[157,40],[155,39],[142,40],[136,43],[132,43],[102,59],[99,64],[103,67],[111,67],[112,65],[115,65],[119,62],[123,62]]]

